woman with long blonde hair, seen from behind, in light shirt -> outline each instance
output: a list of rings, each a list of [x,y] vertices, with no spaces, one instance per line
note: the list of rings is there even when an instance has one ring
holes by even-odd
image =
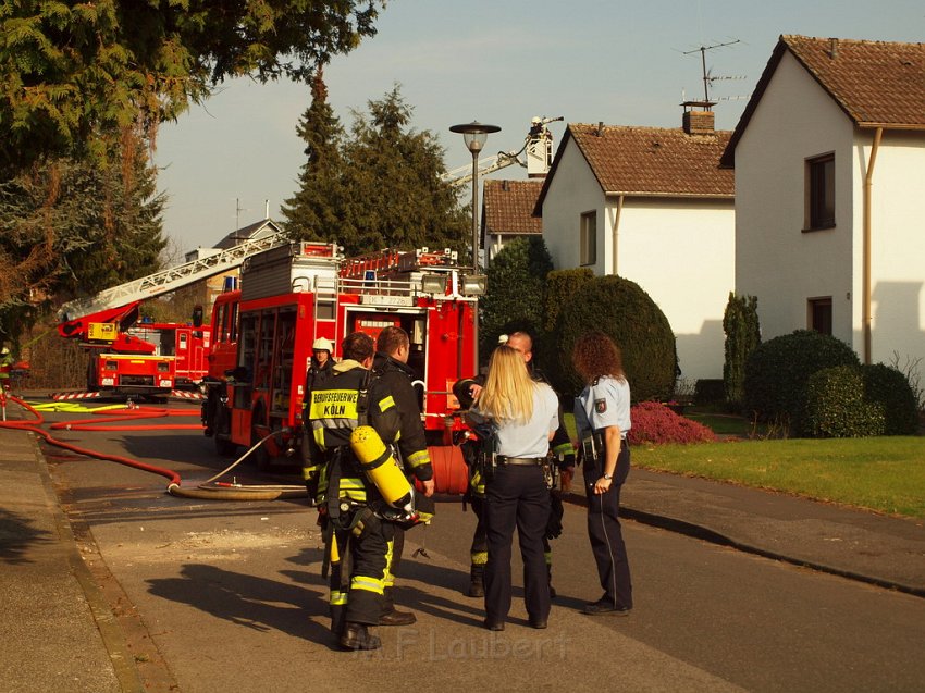
[[[494,470],[485,483],[485,627],[504,630],[510,610],[510,550],[514,528],[523,559],[523,596],[530,626],[546,628],[550,581],[543,536],[550,517],[550,491],[543,465],[558,429],[558,398],[530,378],[523,357],[502,345],[492,355],[485,385],[468,414],[474,425],[494,432]]]

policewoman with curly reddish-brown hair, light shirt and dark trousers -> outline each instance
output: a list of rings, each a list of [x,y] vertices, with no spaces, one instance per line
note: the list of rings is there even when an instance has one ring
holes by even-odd
[[[588,536],[597,565],[603,596],[584,606],[592,616],[627,616],[632,609],[629,561],[620,530],[620,488],[630,467],[630,389],[619,347],[602,332],[575,343],[575,370],[587,383],[575,403],[581,441]]]

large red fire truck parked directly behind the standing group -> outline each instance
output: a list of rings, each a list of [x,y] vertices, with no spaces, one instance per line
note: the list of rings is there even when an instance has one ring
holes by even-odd
[[[202,405],[206,435],[231,454],[263,441],[259,467],[292,456],[301,440],[305,374],[311,345],[362,331],[400,326],[411,339],[429,442],[460,428],[453,383],[476,372],[478,295],[483,277],[466,275],[449,250],[383,250],[344,259],[336,247],[296,243],[251,256],[242,288],[212,310],[210,373]],[[269,436],[269,437],[268,437]]]

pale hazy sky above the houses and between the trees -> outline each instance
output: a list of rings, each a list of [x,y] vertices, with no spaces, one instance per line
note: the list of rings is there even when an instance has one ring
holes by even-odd
[[[430,131],[448,170],[471,166],[457,123],[501,126],[483,154],[519,150],[533,116],[556,146],[566,123],[679,127],[703,98],[701,47],[715,77],[716,127],[733,129],[781,34],[925,40],[922,0],[388,0],[378,34],[324,70],[345,127],[397,84],[411,127]],[[236,79],[161,125],[155,163],[168,197],[164,231],[180,253],[211,247],[269,215],[297,189],[296,126],[309,88]],[[526,178],[519,166],[495,178]],[[467,188],[470,190],[471,188]],[[471,195],[468,193],[467,195]],[[462,201],[468,201],[465,198]]]

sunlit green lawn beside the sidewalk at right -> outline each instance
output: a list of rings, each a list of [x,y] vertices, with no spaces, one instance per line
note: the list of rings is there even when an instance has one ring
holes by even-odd
[[[637,467],[925,518],[925,438],[790,438],[640,445]]]

